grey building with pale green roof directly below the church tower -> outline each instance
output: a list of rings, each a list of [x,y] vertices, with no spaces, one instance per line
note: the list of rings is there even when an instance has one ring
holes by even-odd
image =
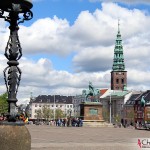
[[[101,97],[103,105],[103,118],[105,121],[115,123],[123,118],[123,106],[131,96],[129,91],[107,90]],[[111,117],[111,119],[110,119]]]

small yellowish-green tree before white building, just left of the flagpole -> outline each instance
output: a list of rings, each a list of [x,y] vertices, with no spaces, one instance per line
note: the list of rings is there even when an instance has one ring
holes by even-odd
[[[45,105],[42,108],[42,115],[45,120],[49,120],[53,116],[53,111]]]

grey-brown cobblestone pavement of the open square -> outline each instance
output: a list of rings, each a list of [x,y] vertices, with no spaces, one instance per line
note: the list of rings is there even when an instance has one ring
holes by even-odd
[[[150,138],[150,131],[128,128],[48,125],[27,128],[31,134],[31,150],[138,150],[137,138]]]

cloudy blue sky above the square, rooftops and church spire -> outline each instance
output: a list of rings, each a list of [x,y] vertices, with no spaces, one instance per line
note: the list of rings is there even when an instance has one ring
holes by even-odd
[[[33,0],[34,18],[20,24],[23,57],[18,101],[81,94],[91,81],[110,88],[120,19],[129,90],[150,89],[149,0]],[[0,19],[0,93],[6,91],[8,23]]]

